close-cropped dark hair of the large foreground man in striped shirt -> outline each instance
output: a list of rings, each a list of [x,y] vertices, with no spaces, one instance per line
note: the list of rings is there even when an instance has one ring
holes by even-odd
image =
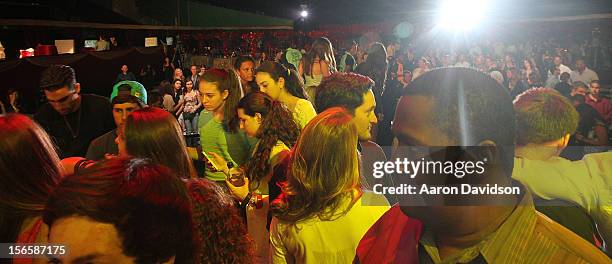
[[[455,146],[494,144],[499,165],[510,176],[514,157],[514,109],[510,94],[497,81],[469,68],[440,68],[414,80],[404,96],[423,96],[430,100],[432,119],[427,122]],[[405,111],[400,106],[396,119]],[[402,122],[405,126],[408,123]]]

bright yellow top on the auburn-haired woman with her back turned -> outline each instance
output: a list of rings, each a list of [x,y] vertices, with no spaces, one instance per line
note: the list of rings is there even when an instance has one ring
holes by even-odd
[[[351,263],[361,237],[388,209],[384,196],[364,192],[346,215],[333,221],[312,218],[293,225],[272,218],[271,262]]]

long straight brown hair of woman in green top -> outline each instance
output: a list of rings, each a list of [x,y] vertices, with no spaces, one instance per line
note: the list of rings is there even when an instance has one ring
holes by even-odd
[[[236,72],[224,69],[213,68],[207,70],[202,75],[202,80],[206,82],[215,83],[219,92],[228,92],[228,96],[225,99],[225,105],[223,106],[223,128],[225,131],[236,132],[240,126],[238,120],[238,114],[236,113],[236,105],[244,94],[242,91],[242,85]],[[203,82],[200,82],[203,83]]]

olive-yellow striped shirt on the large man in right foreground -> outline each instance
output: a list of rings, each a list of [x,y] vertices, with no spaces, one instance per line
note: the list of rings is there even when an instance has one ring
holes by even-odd
[[[419,244],[419,263],[611,263],[596,247],[537,212],[529,192],[497,231],[444,261],[430,231]]]

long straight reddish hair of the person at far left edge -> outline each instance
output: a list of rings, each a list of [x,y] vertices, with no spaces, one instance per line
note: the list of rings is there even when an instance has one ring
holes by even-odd
[[[25,115],[0,116],[0,241],[16,241],[23,221],[42,216],[62,173],[45,131]]]

